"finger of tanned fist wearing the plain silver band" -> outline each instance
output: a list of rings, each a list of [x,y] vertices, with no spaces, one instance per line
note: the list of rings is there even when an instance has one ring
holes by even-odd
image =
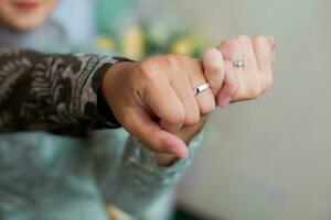
[[[194,96],[194,88],[205,84],[206,80],[203,76],[203,69],[201,62],[192,59],[191,64],[191,73],[189,75],[191,89],[190,92]],[[215,97],[213,96],[212,90],[209,88],[201,94],[195,95],[195,100],[200,109],[201,116],[210,114],[215,109]]]

